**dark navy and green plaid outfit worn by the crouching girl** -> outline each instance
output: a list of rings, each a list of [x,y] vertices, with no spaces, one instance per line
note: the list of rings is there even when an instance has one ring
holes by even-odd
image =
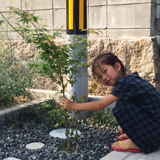
[[[160,94],[137,72],[118,79],[112,95],[118,97],[112,112],[128,137],[144,152],[160,146]]]

